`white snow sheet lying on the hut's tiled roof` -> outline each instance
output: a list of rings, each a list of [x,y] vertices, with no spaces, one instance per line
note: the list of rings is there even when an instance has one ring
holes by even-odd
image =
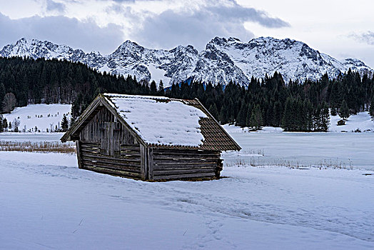
[[[103,96],[146,144],[191,147],[203,144],[199,121],[208,116],[183,100],[126,94]]]

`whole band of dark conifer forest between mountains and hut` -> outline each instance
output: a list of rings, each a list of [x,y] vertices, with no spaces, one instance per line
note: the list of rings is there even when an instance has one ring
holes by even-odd
[[[348,71],[337,79],[289,81],[281,74],[254,79],[248,87],[200,81],[173,84],[136,81],[131,76],[100,73],[85,64],[57,59],[0,58],[0,110],[27,104],[73,104],[73,119],[99,93],[165,95],[178,99],[198,98],[221,124],[259,129],[282,126],[285,131],[327,131],[332,115],[347,118],[359,111],[374,116],[374,78]]]

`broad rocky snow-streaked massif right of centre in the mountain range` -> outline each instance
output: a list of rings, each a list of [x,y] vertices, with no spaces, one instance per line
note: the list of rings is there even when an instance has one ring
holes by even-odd
[[[338,60],[300,41],[260,37],[248,44],[238,39],[213,39],[210,44],[225,52],[238,65],[246,76],[261,78],[265,74],[281,72],[285,81],[289,79],[319,79],[326,72],[336,77],[345,71]]]

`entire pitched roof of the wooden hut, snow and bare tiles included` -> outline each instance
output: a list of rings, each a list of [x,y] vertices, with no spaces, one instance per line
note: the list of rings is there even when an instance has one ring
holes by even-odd
[[[198,99],[127,94],[99,94],[61,141],[79,140],[81,129],[101,106],[106,106],[123,125],[128,126],[142,144],[151,147],[241,150]]]

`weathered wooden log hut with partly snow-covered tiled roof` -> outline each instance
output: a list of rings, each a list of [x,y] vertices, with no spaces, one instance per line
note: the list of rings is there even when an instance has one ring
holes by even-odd
[[[241,150],[198,99],[125,94],[99,94],[61,141],[80,169],[148,181],[215,179]]]

